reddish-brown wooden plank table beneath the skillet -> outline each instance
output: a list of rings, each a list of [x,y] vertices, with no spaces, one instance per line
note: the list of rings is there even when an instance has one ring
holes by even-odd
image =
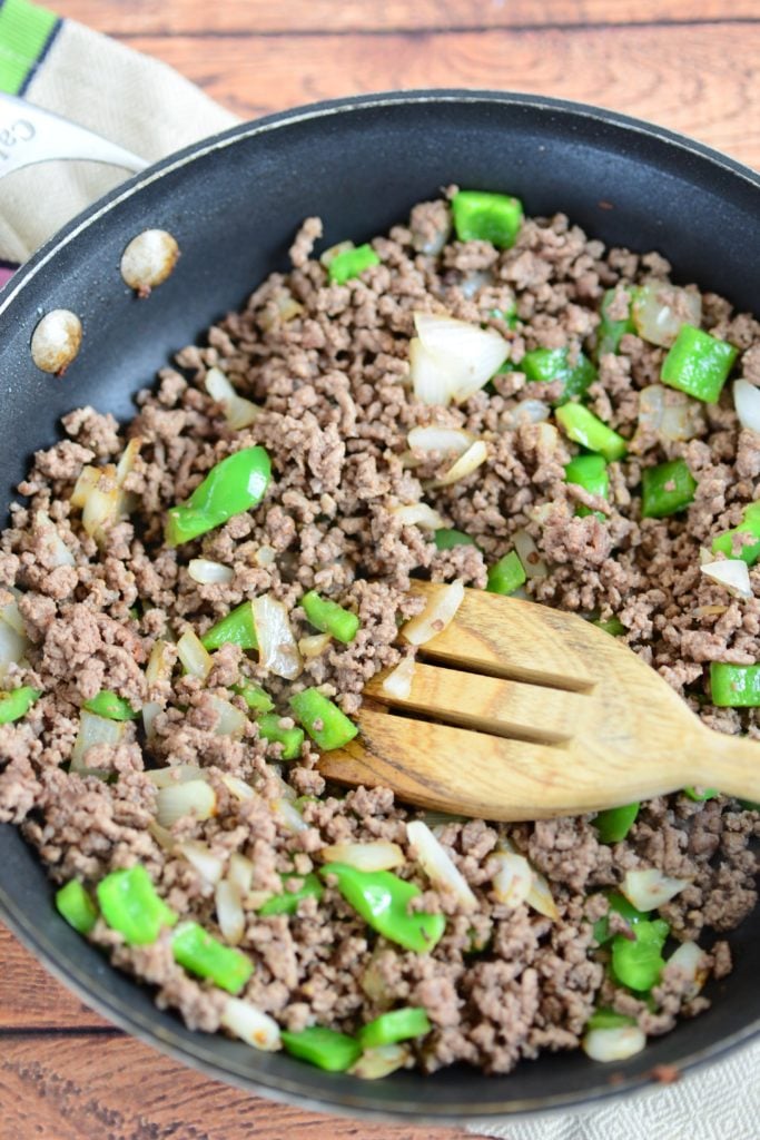
[[[359,91],[501,88],[640,115],[760,166],[760,0],[50,2],[246,117]],[[2,929],[0,962],[0,1140],[464,1137],[245,1096],[112,1028]]]

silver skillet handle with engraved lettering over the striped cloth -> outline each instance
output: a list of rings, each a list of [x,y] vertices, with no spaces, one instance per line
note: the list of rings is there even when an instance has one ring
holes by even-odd
[[[149,165],[85,127],[0,91],[0,178],[55,158],[101,162],[136,174]]]

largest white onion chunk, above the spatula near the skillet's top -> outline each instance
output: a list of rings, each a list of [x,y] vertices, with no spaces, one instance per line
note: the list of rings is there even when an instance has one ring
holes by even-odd
[[[433,312],[416,312],[409,345],[415,394],[424,404],[461,402],[507,359],[509,345],[495,328]]]

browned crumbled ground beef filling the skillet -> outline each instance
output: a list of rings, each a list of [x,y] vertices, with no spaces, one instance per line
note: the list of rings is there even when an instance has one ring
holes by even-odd
[[[526,384],[518,372],[524,352],[593,349],[603,291],[665,278],[668,263],[656,253],[605,251],[562,214],[526,220],[508,251],[451,241],[440,255],[418,252],[448,215],[446,199],[416,206],[408,226],[371,243],[381,264],[348,285],[329,284],[312,258],[321,226],[308,220],[292,250],[293,271],[273,274],[242,312],[210,329],[205,348],[179,352],[177,368],[162,370],[157,389],[139,393],[139,414],[124,432],[113,417],[83,408],[64,420],[68,439],[36,454],[19,488],[27,505],[13,507],[2,535],[0,581],[23,591],[32,642],[28,668],[16,667],[10,683],[32,684],[43,695],[23,722],[0,726],[0,820],[21,824],[56,882],[74,876],[97,881],[139,861],[171,906],[218,933],[212,889],[148,831],[155,791],[145,768],[163,764],[207,768],[219,814],[202,823],[180,820],[174,834],[202,839],[224,858],[232,852],[248,856],[256,891],[279,890],[280,872],[307,873],[319,849],[336,840],[382,837],[408,854],[404,821],[417,813],[395,805],[385,789],[325,789],[309,743],[281,771],[299,795],[318,798],[303,807],[308,830],[285,830],[269,804],[281,793],[272,775],[279,747],[259,739],[253,719],[243,740],[214,735],[210,697],[228,698],[228,686],[246,676],[263,683],[284,712],[288,693],[307,685],[322,686],[349,715],[356,712],[365,682],[399,659],[397,618],[416,606],[407,597],[410,573],[482,587],[487,567],[512,548],[517,529],[529,531],[549,564],[548,577],[529,581],[532,597],[603,619],[616,614],[628,644],[705,724],[760,738],[758,710],[705,703],[706,662],[760,660],[760,598],[735,601],[698,571],[700,547],[739,521],[760,474],[760,437],[739,429],[728,393],[714,407],[695,404],[689,441],[636,434],[628,458],[611,464],[608,505],[591,502],[604,510],[604,522],[573,513],[582,492],[565,483],[563,471],[572,445],[550,423],[521,422],[521,400],[547,397],[546,385]],[[492,316],[513,299],[516,331]],[[615,304],[613,316],[624,317],[622,290]],[[497,328],[509,341],[515,370],[499,374],[495,392],[481,391],[464,407],[420,405],[408,385],[412,311],[420,309]],[[703,327],[742,350],[737,373],[760,385],[760,325],[708,293]],[[656,382],[663,351],[626,335],[620,355],[600,361],[590,406],[628,438],[636,432],[638,393]],[[231,431],[205,393],[212,365],[262,406],[251,429]],[[438,552],[428,530],[401,527],[392,513],[395,505],[420,500],[422,483],[450,466],[440,455],[404,466],[407,433],[431,423],[465,426],[488,442],[488,461],[475,473],[425,496],[480,548]],[[128,487],[138,507],[98,548],[70,506],[72,487],[83,464],[112,461],[134,437],[142,446]],[[263,503],[178,549],[162,545],[166,508],[221,458],[252,443],[263,445],[272,459]],[[678,456],[698,480],[693,505],[662,521],[641,520],[641,469]],[[41,511],[73,553],[74,567],[52,567]],[[231,567],[231,584],[193,581],[187,564],[199,554]],[[751,577],[757,592],[760,570]],[[254,654],[227,645],[205,685],[175,675],[171,691],[147,690],[145,665],[157,637],[188,627],[202,634],[242,600],[265,592],[288,605],[299,636],[312,633],[299,609],[310,588],[353,609],[361,627],[352,644],[333,642],[307,661],[294,685],[272,679]],[[136,620],[129,611],[138,600]],[[89,765],[113,773],[111,783],[67,771],[82,701],[103,689],[136,708],[149,699],[164,706],[150,749],[132,722],[119,747],[99,746],[97,756],[88,755]],[[240,803],[221,773],[252,782],[259,795]],[[240,947],[255,971],[244,996],[292,1029],[318,1023],[354,1032],[394,1004],[424,1005],[434,1029],[415,1051],[426,1070],[466,1060],[506,1072],[540,1049],[571,1049],[599,1004],[634,1013],[647,1034],[664,1033],[678,1016],[708,1002],[688,996],[673,969],[665,969],[654,991],[654,1008],[611,980],[591,927],[607,909],[603,889],[635,866],[689,879],[661,913],[676,938],[710,945],[703,935],[730,930],[754,906],[749,839],[758,821],[757,812],[732,799],[693,803],[673,795],[646,804],[628,838],[612,846],[598,842],[593,816],[447,823],[439,836],[480,910],[463,913],[408,862],[400,873],[423,888],[426,909],[447,915],[433,953],[404,952],[375,935],[330,887],[319,904],[307,899],[291,918],[247,912]],[[558,921],[495,899],[490,856],[505,834],[547,876]],[[473,928],[485,947],[476,953]],[[154,984],[161,1007],[177,1008],[191,1027],[218,1028],[223,995],[173,962],[166,936],[130,948],[99,921],[92,938],[109,947],[117,966]],[[717,977],[730,970],[725,942],[712,947],[710,964]]]

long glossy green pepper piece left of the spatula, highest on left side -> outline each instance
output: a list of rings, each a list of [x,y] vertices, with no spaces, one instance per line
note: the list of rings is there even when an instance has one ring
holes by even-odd
[[[258,506],[264,497],[271,464],[263,447],[245,447],[212,467],[187,503],[173,506],[166,518],[166,543],[179,546],[236,514]]]

